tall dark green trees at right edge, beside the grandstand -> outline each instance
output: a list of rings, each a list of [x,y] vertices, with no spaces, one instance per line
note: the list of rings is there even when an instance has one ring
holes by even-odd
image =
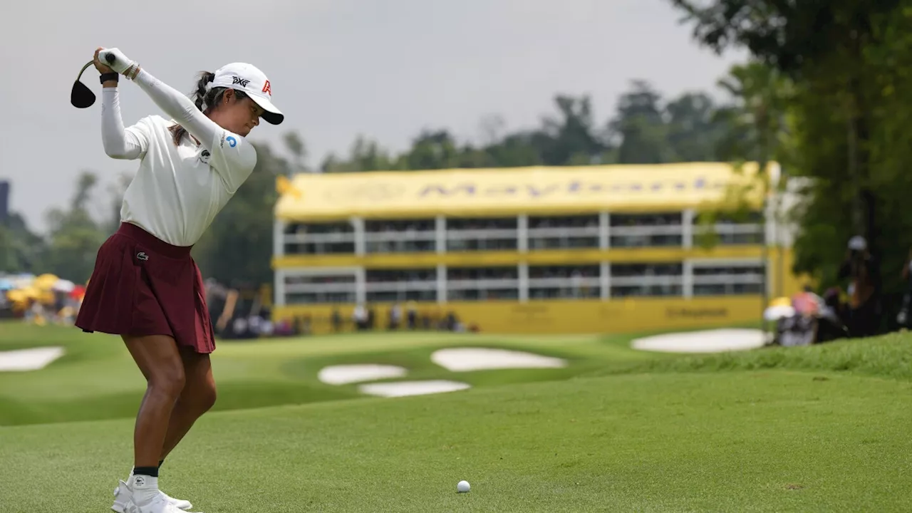
[[[794,213],[795,269],[836,283],[845,245],[865,236],[887,291],[912,256],[912,2],[668,0],[692,36],[756,63],[745,94],[761,158],[812,178]],[[762,84],[767,84],[763,86]]]

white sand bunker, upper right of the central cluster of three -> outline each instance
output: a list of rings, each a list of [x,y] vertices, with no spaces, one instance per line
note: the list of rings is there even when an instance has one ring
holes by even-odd
[[[485,348],[453,348],[434,351],[430,360],[451,372],[489,369],[548,369],[565,367],[560,358],[531,352]]]

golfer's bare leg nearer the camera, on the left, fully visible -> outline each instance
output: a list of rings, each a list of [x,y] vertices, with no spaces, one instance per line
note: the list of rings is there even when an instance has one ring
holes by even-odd
[[[133,431],[134,465],[159,466],[171,412],[184,387],[181,353],[168,336],[121,338],[147,382]]]

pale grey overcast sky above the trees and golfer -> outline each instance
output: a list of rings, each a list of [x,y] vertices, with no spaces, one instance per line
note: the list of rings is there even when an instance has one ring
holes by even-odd
[[[601,124],[631,79],[647,79],[667,97],[715,89],[746,54],[720,58],[698,47],[668,4],[17,2],[16,16],[0,18],[6,119],[0,178],[12,182],[13,210],[43,230],[45,212],[67,202],[79,170],[94,170],[109,183],[136,169],[136,162],[104,154],[98,103],[88,110],[69,105],[73,79],[99,46],[119,47],[181,91],[192,88],[201,69],[253,63],[270,79],[285,122],[261,124],[251,137],[278,142],[285,131],[298,131],[308,163],[316,165],[327,152],[346,153],[358,134],[395,151],[425,127],[477,141],[482,118],[491,114],[503,117],[506,130],[534,126],[551,113],[555,92],[590,94]],[[83,81],[100,90],[92,69]],[[160,113],[135,85],[121,80],[120,89],[127,126]],[[99,199],[107,202],[107,196]]]

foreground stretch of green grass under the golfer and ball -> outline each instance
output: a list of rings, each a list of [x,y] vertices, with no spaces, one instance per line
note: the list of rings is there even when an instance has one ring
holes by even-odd
[[[215,513],[902,511],[910,388],[668,373],[224,412],[203,417],[161,486]],[[105,510],[131,429],[0,428],[0,511]]]

